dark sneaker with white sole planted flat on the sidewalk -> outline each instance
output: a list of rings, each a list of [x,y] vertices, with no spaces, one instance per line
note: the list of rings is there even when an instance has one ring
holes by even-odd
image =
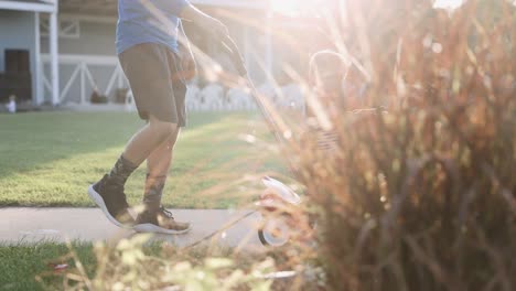
[[[158,211],[144,209],[138,214],[133,229],[138,233],[181,235],[190,231],[190,223],[180,223],[172,213],[161,206]]]

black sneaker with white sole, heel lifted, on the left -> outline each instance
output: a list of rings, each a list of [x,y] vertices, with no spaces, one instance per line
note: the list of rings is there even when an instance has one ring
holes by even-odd
[[[106,217],[118,227],[131,228],[135,218],[129,213],[123,186],[112,185],[108,182],[108,175],[88,188],[89,197],[103,209]]]

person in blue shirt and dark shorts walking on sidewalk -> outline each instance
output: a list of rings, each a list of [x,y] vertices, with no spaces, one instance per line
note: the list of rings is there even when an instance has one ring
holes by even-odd
[[[128,141],[112,169],[89,186],[88,194],[119,227],[184,234],[191,229],[190,223],[175,220],[161,204],[174,144],[186,125],[184,72],[195,69],[190,45],[180,37],[184,33],[181,21],[192,21],[214,36],[228,34],[228,30],[187,0],[118,0],[118,58],[147,125]],[[143,207],[135,219],[123,188],[144,161]]]

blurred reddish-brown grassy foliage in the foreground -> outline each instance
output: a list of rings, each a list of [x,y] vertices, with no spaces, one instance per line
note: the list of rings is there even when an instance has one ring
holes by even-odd
[[[387,110],[312,108],[337,131],[336,151],[286,143],[320,235],[315,248],[292,245],[281,268],[315,258],[334,290],[516,290],[514,4],[336,2],[322,26],[368,80],[364,107]],[[142,252],[120,252],[126,245],[99,257],[111,259],[90,288],[268,289],[260,274],[275,269],[142,265]]]

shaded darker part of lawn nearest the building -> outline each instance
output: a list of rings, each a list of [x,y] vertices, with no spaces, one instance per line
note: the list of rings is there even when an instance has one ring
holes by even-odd
[[[194,114],[186,132],[224,117]],[[121,148],[143,126],[136,114],[127,112],[0,115],[0,179],[39,170],[56,160]]]

